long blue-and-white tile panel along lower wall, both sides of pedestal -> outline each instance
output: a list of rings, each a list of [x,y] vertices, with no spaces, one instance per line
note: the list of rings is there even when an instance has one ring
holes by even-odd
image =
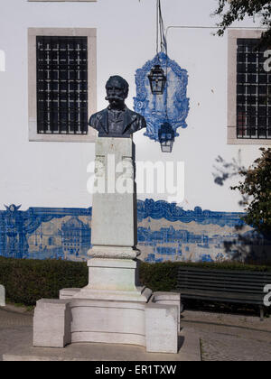
[[[18,259],[86,261],[91,208],[0,211],[0,255]],[[137,202],[137,247],[145,262],[270,259],[271,242],[246,225],[242,213],[184,210],[174,203]]]

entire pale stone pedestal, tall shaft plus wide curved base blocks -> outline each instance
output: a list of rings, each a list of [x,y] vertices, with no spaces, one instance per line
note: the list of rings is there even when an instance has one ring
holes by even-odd
[[[89,284],[61,290],[61,300],[37,302],[33,345],[101,342],[177,353],[180,294],[159,292],[156,296],[138,282],[131,138],[98,138],[95,184],[99,192],[93,195]]]

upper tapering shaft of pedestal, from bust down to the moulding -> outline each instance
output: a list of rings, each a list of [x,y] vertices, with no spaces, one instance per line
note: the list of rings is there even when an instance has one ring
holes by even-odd
[[[103,258],[123,255],[133,259],[136,257],[132,249],[137,244],[137,220],[132,138],[98,138],[96,177],[97,188],[103,189],[104,183],[105,193],[93,194],[91,243],[94,248],[89,255]]]

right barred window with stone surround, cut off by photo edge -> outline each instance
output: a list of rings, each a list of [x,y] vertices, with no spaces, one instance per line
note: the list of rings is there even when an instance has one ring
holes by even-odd
[[[229,31],[229,143],[271,143],[271,50],[258,47],[260,35]]]

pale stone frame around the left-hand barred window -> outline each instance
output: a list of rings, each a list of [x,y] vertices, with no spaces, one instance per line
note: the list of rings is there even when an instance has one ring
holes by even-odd
[[[89,116],[97,112],[97,31],[95,28],[29,28],[28,29],[28,127],[32,142],[95,142],[97,132],[89,126],[88,134],[37,133],[36,36],[88,37],[88,104]]]

